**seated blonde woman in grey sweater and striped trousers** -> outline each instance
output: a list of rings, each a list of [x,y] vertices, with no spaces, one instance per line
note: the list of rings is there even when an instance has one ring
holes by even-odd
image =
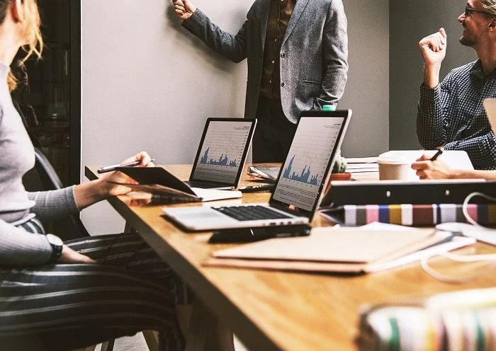
[[[40,56],[35,0],[0,0],[0,350],[72,350],[140,330],[158,330],[160,350],[182,350],[176,304],[188,304],[184,282],[136,234],[62,242],[41,221],[130,191],[108,180],[26,192],[33,145],[9,94],[9,66],[20,47]],[[142,152],[126,161],[153,166]],[[23,344],[36,340],[36,345]]]

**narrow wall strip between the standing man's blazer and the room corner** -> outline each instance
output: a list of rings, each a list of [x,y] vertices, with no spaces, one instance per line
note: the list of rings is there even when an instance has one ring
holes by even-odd
[[[349,73],[338,108],[351,108],[353,115],[342,155],[378,156],[389,150],[389,1],[343,3]]]

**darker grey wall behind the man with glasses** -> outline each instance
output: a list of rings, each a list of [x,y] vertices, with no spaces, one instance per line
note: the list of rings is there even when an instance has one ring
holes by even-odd
[[[444,27],[448,35],[441,79],[451,69],[477,59],[475,51],[458,42],[462,25],[457,18],[465,11],[466,0],[395,0],[390,4],[390,103],[391,149],[419,149],[417,105],[424,79],[424,59],[418,42]],[[408,13],[408,16],[405,16]]]

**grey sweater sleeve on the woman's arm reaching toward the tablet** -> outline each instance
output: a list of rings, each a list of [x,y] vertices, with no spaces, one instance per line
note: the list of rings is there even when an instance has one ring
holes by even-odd
[[[30,212],[41,221],[53,221],[79,212],[74,198],[74,186],[60,190],[28,192],[29,200],[35,201]]]

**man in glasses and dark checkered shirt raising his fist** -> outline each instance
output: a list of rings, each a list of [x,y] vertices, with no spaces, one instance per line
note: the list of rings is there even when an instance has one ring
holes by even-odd
[[[446,55],[446,32],[419,42],[424,57],[417,135],[426,149],[467,151],[475,169],[496,169],[496,137],[483,108],[496,98],[496,0],[468,0],[458,17],[462,45],[473,47],[478,60],[453,69],[439,84]]]

